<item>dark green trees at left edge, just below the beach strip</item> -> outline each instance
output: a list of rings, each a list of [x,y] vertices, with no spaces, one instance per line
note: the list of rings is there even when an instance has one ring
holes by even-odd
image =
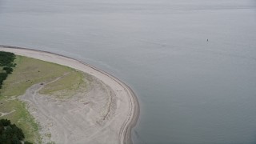
[[[2,83],[6,80],[8,74],[13,72],[13,67],[16,66],[14,62],[15,54],[0,51],[0,66],[2,71],[0,72],[0,89],[2,88]]]

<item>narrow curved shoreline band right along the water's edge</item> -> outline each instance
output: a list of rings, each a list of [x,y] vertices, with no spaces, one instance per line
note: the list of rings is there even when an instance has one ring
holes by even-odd
[[[111,85],[110,87],[115,91],[118,90],[117,87],[114,87],[116,84],[121,86],[123,89],[123,91],[121,92],[122,94],[120,93],[117,93],[117,94],[120,94],[120,96],[126,96],[127,98],[129,98],[129,112],[127,114],[126,121],[122,123],[121,129],[118,132],[118,143],[132,143],[131,130],[138,121],[140,109],[139,109],[138,98],[134,94],[134,91],[131,90],[130,87],[127,86],[124,82],[120,81],[118,78],[115,78],[113,75],[108,74],[103,70],[99,70],[98,68],[94,66],[90,66],[85,62],[64,56],[62,54],[54,54],[48,51],[33,50],[33,49],[22,48],[17,46],[2,46],[2,45],[0,45],[0,50],[13,52],[14,54],[23,55],[30,58],[37,58],[47,62],[54,61],[54,63],[58,63],[60,65],[69,66],[77,70],[82,70],[83,72],[94,75],[96,78],[99,78],[101,80],[103,78],[104,80],[102,81],[103,82],[105,81],[106,85],[109,85],[109,86]],[[40,55],[44,56],[44,58],[40,57]],[[55,57],[53,58],[51,56],[55,56]],[[56,58],[56,56],[58,58]],[[62,62],[62,60],[66,60],[66,63]],[[68,63],[68,61],[70,63]],[[75,63],[81,64],[81,66],[84,66],[84,67],[81,68],[78,65],[72,65]],[[109,81],[112,81],[112,82],[109,82]],[[113,82],[116,82],[116,83],[113,84]]]

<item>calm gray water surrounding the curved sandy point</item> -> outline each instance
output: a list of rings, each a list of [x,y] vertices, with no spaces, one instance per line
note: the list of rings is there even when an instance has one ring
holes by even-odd
[[[122,79],[135,144],[256,143],[254,0],[0,0],[0,44]]]

